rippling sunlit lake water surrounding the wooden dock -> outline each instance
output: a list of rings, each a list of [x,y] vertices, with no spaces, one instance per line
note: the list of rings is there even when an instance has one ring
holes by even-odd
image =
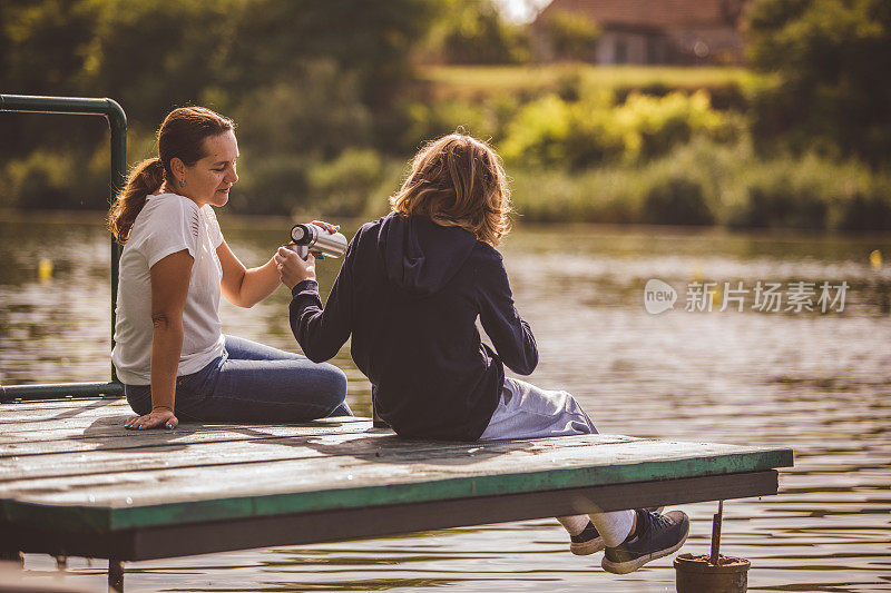
[[[287,231],[221,221],[247,265]],[[502,251],[540,348],[530,380],[574,393],[601,432],[795,451],[779,496],[725,504],[722,552],[752,561],[752,591],[865,592],[891,591],[891,274],[870,266],[875,249],[891,258],[891,237],[521,226]],[[109,377],[109,257],[97,224],[0,221],[0,383]],[[53,266],[42,280],[41,258]],[[323,289],[336,268],[320,264]],[[652,278],[677,293],[673,310],[645,309]],[[779,285],[779,307],[757,296],[780,310],[753,308],[758,281]],[[717,286],[702,299],[695,283]],[[686,310],[709,302],[711,312]],[[224,328],[297,349],[286,304],[283,289],[249,310],[226,304]],[[350,405],[368,415],[368,382],[346,349],[335,363]],[[684,506],[685,551],[707,551],[716,506]],[[599,561],[569,554],[557,522],[540,520],[128,563],[125,582],[130,592],[674,591],[670,557],[626,576]],[[105,587],[102,561],[70,559],[56,572],[29,554],[25,567],[35,583]]]

